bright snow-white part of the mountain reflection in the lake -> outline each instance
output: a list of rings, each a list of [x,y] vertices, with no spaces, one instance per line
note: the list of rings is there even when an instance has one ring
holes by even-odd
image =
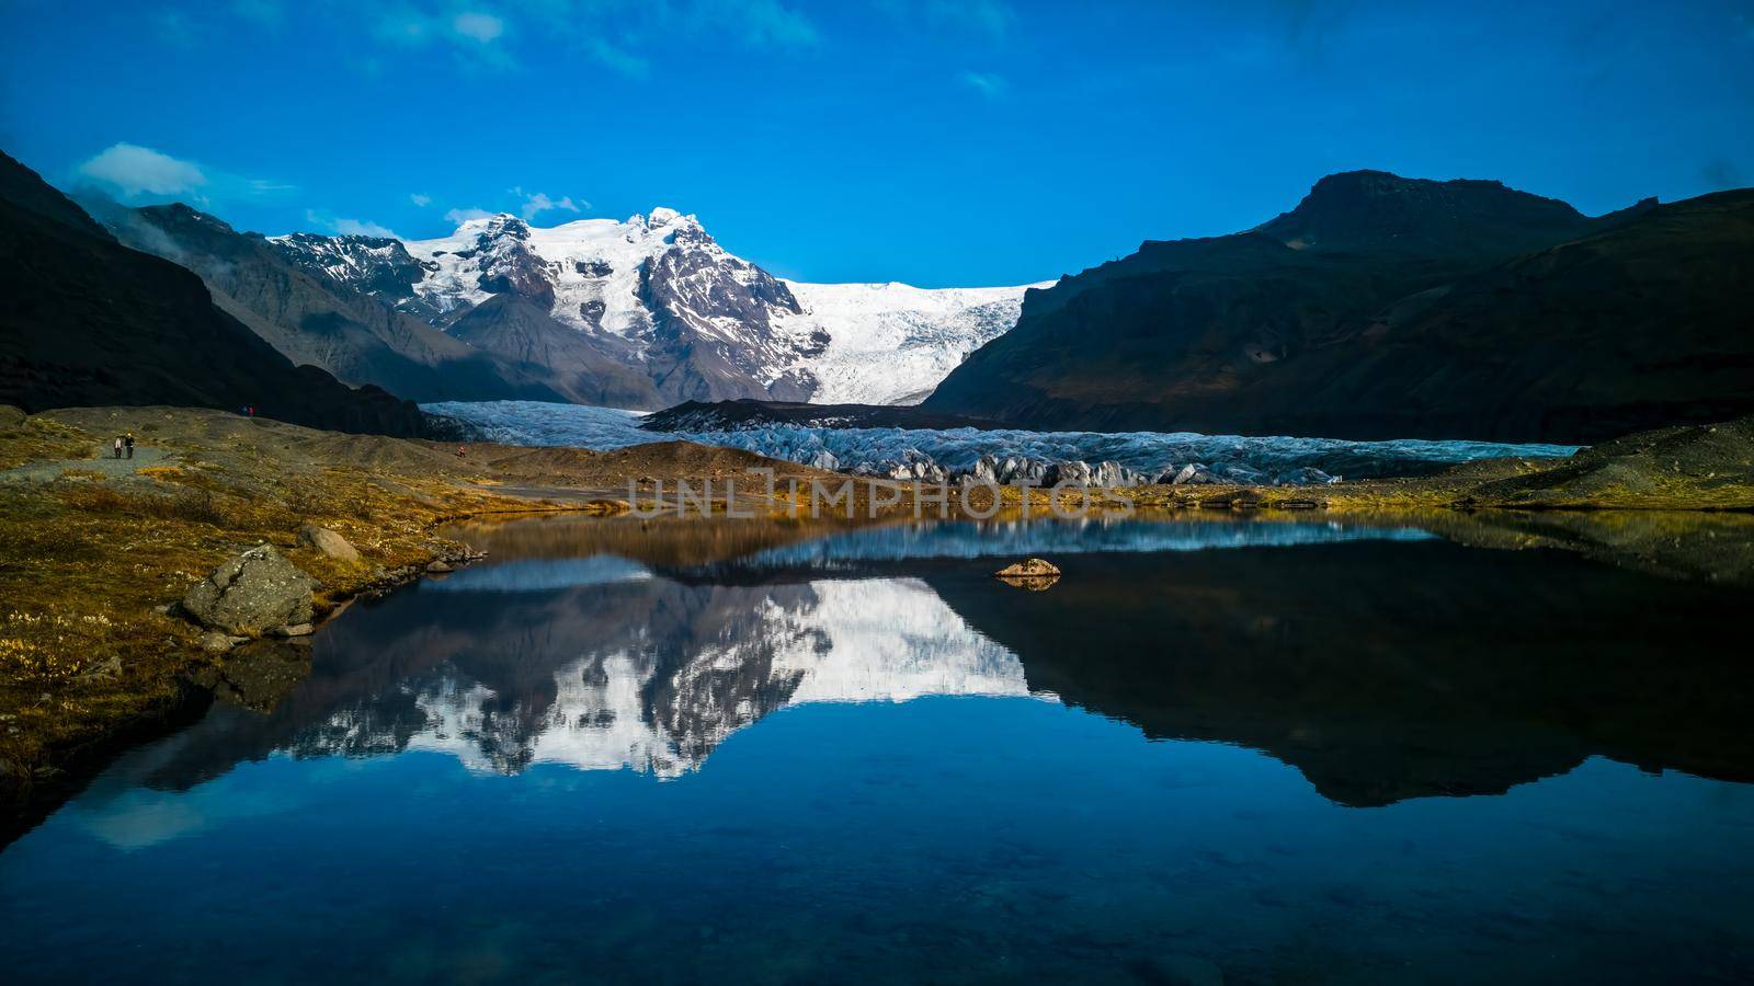
[[[728,616],[710,618],[712,632],[667,642],[652,637],[661,626],[640,626],[588,644],[533,702],[507,705],[479,681],[440,677],[414,693],[424,726],[407,747],[449,753],[472,770],[565,763],[675,777],[784,705],[1030,691],[1017,656],[917,579],[684,589],[700,593]]]

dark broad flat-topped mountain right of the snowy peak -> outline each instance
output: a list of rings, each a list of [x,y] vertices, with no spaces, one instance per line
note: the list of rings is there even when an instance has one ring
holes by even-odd
[[[1754,191],[1584,218],[1496,182],[1323,179],[1230,237],[1024,300],[931,411],[1033,428],[1591,442],[1754,409]]]

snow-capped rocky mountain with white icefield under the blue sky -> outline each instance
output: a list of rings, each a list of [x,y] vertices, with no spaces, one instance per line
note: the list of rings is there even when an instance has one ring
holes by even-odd
[[[579,400],[605,391],[596,358],[633,368],[651,381],[649,398],[624,382],[609,389],[652,407],[745,397],[917,402],[1016,323],[1026,289],[781,281],[674,209],[551,228],[500,214],[433,240],[298,233],[270,242],[300,267],[474,346],[526,363],[563,360],[556,374],[591,377],[556,381]],[[507,319],[507,305],[521,316]],[[533,312],[577,337],[537,330]],[[503,332],[509,321],[516,333]],[[581,340],[589,356],[579,354]]]

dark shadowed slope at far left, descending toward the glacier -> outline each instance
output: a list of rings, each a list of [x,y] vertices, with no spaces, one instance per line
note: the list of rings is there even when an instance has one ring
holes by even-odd
[[[0,154],[0,404],[237,409],[344,432],[414,435],[419,411],[293,367],[214,307],[188,270],[128,249]]]

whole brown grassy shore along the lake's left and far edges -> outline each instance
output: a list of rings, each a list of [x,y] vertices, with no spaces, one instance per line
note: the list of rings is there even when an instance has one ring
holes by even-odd
[[[142,447],[156,449],[151,460],[107,475],[89,470],[91,451],[114,430],[111,421],[137,423]],[[1094,516],[1124,511],[1147,519],[1400,518],[1480,547],[1561,547],[1673,577],[1754,582],[1747,472],[1694,482],[1679,465],[1701,435],[1717,440],[1719,428],[1731,426],[1631,437],[1540,467],[1493,460],[1433,477],[1331,486],[1110,488],[1094,491],[1091,502]],[[1736,442],[1747,442],[1745,423],[1731,430]],[[1628,467],[1652,458],[1652,449],[1673,458],[1672,475],[1651,479],[1651,470]],[[1738,449],[1731,458],[1745,454]],[[916,505],[896,489],[903,482],[688,442],[616,453],[516,446],[456,453],[437,442],[163,407],[70,409],[0,426],[0,589],[11,602],[11,612],[0,612],[0,805],[7,814],[0,844],[35,825],[121,749],[205,711],[226,653],[203,651],[202,628],[170,616],[167,604],[254,544],[275,546],[316,579],[312,623],[321,626],[360,598],[419,581],[433,563],[477,560],[444,537],[447,526],[619,516],[631,507],[626,489],[644,505],[638,491],[656,481],[724,479],[754,465],[775,468],[788,484],[851,481],[852,507],[861,509],[854,518],[788,518],[796,493],[781,488],[667,521],[689,526],[747,516],[731,512],[735,505],[796,525],[793,533],[837,530],[905,521]],[[1000,493],[1000,504],[982,502],[989,507],[996,521],[1021,519],[1024,498],[1012,488]],[[1028,507],[1037,519],[1052,519],[1045,491],[1028,493]],[[342,563],[300,546],[300,525],[339,530],[363,560]],[[1689,540],[1682,528],[1705,533]]]

